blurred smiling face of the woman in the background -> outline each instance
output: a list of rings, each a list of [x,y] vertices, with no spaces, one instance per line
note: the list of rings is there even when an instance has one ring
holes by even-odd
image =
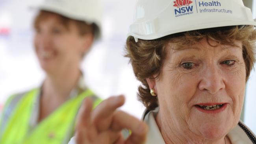
[[[79,35],[78,28],[70,21],[64,27],[58,15],[49,15],[39,22],[34,37],[35,52],[41,67],[47,73],[58,73],[67,68],[78,68],[86,38]]]

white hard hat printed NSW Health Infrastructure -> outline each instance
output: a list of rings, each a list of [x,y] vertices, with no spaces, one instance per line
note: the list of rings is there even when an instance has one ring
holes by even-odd
[[[138,0],[129,36],[152,40],[184,31],[254,25],[242,0]]]

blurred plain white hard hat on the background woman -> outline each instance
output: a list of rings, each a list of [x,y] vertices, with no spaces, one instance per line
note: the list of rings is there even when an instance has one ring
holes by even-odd
[[[102,7],[99,0],[45,0],[39,9],[81,20],[87,24],[94,23],[98,27],[95,38],[100,37]]]

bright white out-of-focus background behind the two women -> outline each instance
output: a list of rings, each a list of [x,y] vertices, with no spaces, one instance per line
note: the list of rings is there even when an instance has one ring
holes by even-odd
[[[250,1],[256,17],[256,0]],[[7,97],[39,87],[44,73],[33,50],[33,17],[29,7],[42,0],[0,0],[0,111]],[[136,0],[102,0],[103,37],[95,44],[82,63],[85,83],[101,98],[125,94],[122,110],[141,117],[143,105],[137,101],[137,87],[124,45],[128,26],[133,20]],[[247,84],[244,122],[256,133],[256,72]]]

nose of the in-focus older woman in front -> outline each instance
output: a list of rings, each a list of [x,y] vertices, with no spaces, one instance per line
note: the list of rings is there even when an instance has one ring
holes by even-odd
[[[217,93],[219,90],[225,89],[224,77],[221,70],[217,66],[208,66],[201,74],[200,90],[208,91],[211,94]]]

